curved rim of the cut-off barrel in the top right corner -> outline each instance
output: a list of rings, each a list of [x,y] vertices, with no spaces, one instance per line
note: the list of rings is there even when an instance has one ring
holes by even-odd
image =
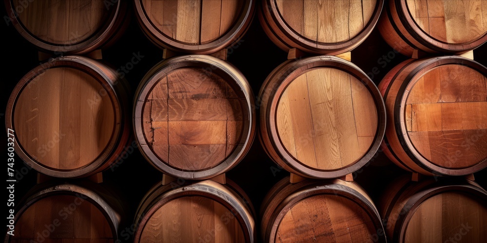
[[[471,40],[466,43],[447,43],[445,41],[440,41],[431,35],[428,35],[423,29],[419,27],[416,21],[412,18],[409,11],[409,7],[406,0],[391,1],[395,3],[397,14],[402,24],[405,26],[407,32],[416,41],[425,45],[427,48],[435,52],[462,52],[475,49],[482,44],[487,42],[487,31],[484,35],[480,36],[475,40]]]

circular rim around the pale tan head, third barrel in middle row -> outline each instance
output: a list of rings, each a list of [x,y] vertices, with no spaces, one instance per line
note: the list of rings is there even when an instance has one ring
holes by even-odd
[[[313,67],[309,67],[309,64],[311,63]],[[288,65],[289,66],[286,68],[289,68],[289,71],[285,73],[286,74],[285,77],[279,78],[278,88],[272,90],[273,92],[269,97],[270,102],[266,107],[267,115],[265,121],[267,124],[268,136],[271,139],[271,143],[274,149],[276,150],[277,153],[279,153],[282,162],[285,162],[286,164],[291,166],[294,170],[298,171],[299,174],[304,174],[306,177],[313,177],[313,178],[336,178],[346,174],[353,173],[356,170],[360,169],[367,162],[369,162],[369,160],[374,156],[375,152],[378,150],[382,142],[385,133],[385,124],[386,124],[385,104],[375,84],[361,69],[356,67],[356,65],[334,56],[309,57],[298,61],[290,62]],[[303,67],[306,67],[306,69],[303,70]],[[278,136],[279,133],[277,132],[276,113],[277,113],[277,106],[279,104],[279,100],[282,95],[282,91],[287,87],[287,84],[292,82],[294,77],[297,77],[300,74],[312,68],[314,69],[319,67],[337,68],[355,76],[359,81],[362,82],[362,84],[369,90],[371,95],[374,97],[375,106],[377,108],[377,129],[375,133],[375,139],[374,142],[371,144],[368,152],[365,153],[363,156],[361,156],[354,163],[336,170],[319,170],[317,168],[311,168],[309,166],[300,163],[298,159],[294,158],[289,153],[287,153],[287,150],[283,146]],[[345,68],[349,68],[349,69],[345,69]],[[287,80],[287,84],[286,84],[286,80]]]

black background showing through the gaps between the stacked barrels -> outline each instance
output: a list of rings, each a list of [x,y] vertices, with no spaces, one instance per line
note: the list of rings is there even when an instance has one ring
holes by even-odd
[[[0,5],[2,5],[0,14],[3,17],[5,16],[5,7],[3,4]],[[132,6],[130,6],[130,10],[133,13],[132,9]],[[7,26],[5,22],[1,22],[0,26],[3,42],[3,47],[1,48],[3,56],[1,83],[3,88],[1,90],[0,117],[4,121],[6,104],[13,88],[23,75],[41,62],[38,61],[37,49],[24,40],[12,25]],[[408,59],[408,57],[395,54],[392,51],[393,49],[381,38],[375,28],[372,34],[352,51],[352,62],[366,73],[372,72],[372,69],[377,68],[379,73],[374,75],[373,81],[378,85],[389,70]],[[103,50],[103,61],[119,68],[130,62],[133,52],[140,52],[144,57],[126,75],[132,92],[135,91],[144,74],[162,60],[162,50],[146,38],[132,15],[130,25],[124,35],[113,46]],[[384,58],[384,55],[387,56],[388,54],[389,57],[387,59]],[[474,54],[475,60],[486,66],[487,45],[475,50]],[[254,94],[258,94],[267,75],[286,59],[287,53],[270,41],[263,32],[258,18],[254,17],[251,27],[242,38],[240,44],[229,49],[227,60],[244,73]],[[4,151],[2,156],[6,156],[7,136],[5,130],[0,130],[2,138],[0,146],[5,148],[2,149]],[[21,197],[36,184],[37,172],[26,169],[21,171],[26,165],[21,162],[18,156],[15,157],[15,160],[18,178],[21,177],[15,185],[15,197],[16,203],[18,203]],[[355,180],[371,195],[375,202],[377,202],[385,187],[394,178],[399,177],[401,174],[407,174],[406,171],[394,165],[380,151],[377,152],[370,165],[362,169],[361,173],[354,174]],[[25,174],[25,172],[27,173]],[[267,191],[287,175],[289,175],[288,172],[279,170],[278,166],[265,154],[257,136],[244,160],[226,174],[227,178],[235,181],[244,189],[257,211],[259,211],[262,199]],[[476,181],[484,188],[487,185],[486,175],[486,170],[475,174]],[[119,192],[122,194],[121,196],[126,198],[125,200],[129,205],[127,210],[127,222],[129,225],[133,222],[134,211],[144,194],[155,183],[160,183],[162,179],[162,174],[145,160],[138,149],[135,149],[119,167],[113,171],[109,169],[103,173],[103,176],[104,183],[114,185],[118,188],[118,191],[121,191]],[[256,223],[256,229],[260,230],[259,216],[257,216]]]

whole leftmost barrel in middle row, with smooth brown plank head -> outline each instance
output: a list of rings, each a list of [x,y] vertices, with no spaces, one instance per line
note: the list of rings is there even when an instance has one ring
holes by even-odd
[[[83,177],[107,169],[130,136],[127,88],[92,59],[52,59],[27,73],[7,103],[15,151],[38,172]]]

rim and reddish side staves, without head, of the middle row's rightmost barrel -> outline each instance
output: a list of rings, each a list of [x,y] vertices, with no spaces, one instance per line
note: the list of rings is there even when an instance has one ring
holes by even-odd
[[[390,144],[384,144],[387,149],[386,156],[388,156],[396,165],[408,170],[410,172],[417,172],[425,175],[467,175],[473,174],[474,172],[483,170],[487,167],[485,158],[480,161],[477,165],[470,166],[462,169],[450,169],[437,166],[430,161],[427,161],[421,154],[414,148],[414,145],[409,139],[405,139],[403,134],[407,134],[406,127],[403,119],[404,114],[404,104],[406,103],[407,96],[404,90],[411,89],[412,85],[408,84],[417,76],[420,76],[424,72],[428,71],[428,68],[434,68],[443,64],[458,64],[466,65],[473,68],[480,73],[487,76],[487,68],[482,66],[482,64],[470,60],[461,56],[440,56],[432,58],[424,58],[417,61],[414,59],[409,59],[399,64],[402,66],[401,69],[392,69],[386,74],[384,79],[384,84],[379,85],[384,90],[384,101],[386,108],[388,109],[388,114],[392,116],[392,119],[388,120],[388,126],[386,129],[386,139]],[[391,77],[394,76],[394,77]],[[399,77],[401,76],[401,77]],[[394,85],[394,80],[396,78],[404,79],[404,84],[401,85],[400,93],[389,94],[390,88]],[[381,81],[381,83],[382,83]],[[399,80],[401,81],[401,80]],[[399,84],[396,83],[396,86]],[[407,87],[406,87],[407,86]],[[388,99],[388,97],[391,97]],[[398,104],[400,103],[400,104]],[[393,123],[392,123],[393,122]],[[406,145],[406,146],[404,146]],[[405,156],[407,155],[407,156]]]

